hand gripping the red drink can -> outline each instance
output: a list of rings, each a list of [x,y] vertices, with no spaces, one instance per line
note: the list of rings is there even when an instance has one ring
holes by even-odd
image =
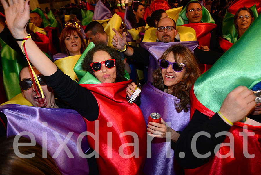
[[[150,131],[153,134],[149,134],[149,136],[151,137],[158,137],[158,138],[166,138],[167,137],[167,132],[170,132],[171,134],[171,140],[173,140],[174,142],[177,142],[180,134],[171,129],[171,127],[168,126],[168,124],[166,124],[166,122],[161,119],[161,124],[160,123],[155,123],[155,122],[150,122],[148,124],[148,131]]]

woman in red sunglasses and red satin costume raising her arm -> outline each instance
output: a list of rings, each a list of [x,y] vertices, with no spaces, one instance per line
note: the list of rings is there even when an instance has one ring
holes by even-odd
[[[89,131],[88,143],[99,157],[99,174],[143,174],[146,124],[139,107],[125,99],[130,81],[125,81],[124,64],[117,50],[89,44],[90,50],[77,64],[79,85],[63,74],[31,38],[24,39],[28,37],[25,27],[29,21],[29,1],[8,0],[8,5],[1,0],[1,3],[7,25],[14,38],[19,39],[19,46],[21,40],[25,41],[30,62],[45,76],[47,85],[83,116]]]

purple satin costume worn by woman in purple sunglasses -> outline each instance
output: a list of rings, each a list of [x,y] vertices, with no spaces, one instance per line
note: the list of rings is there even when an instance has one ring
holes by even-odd
[[[179,103],[179,99],[155,88],[150,82],[142,87],[140,100],[139,107],[142,110],[146,124],[148,124],[149,115],[153,112],[159,113],[165,122],[170,122],[167,124],[175,131],[183,131],[189,124],[190,106],[188,112],[177,113],[175,104]],[[174,160],[174,150],[171,149],[171,143],[166,142],[164,138],[153,138],[151,144],[151,158],[146,160],[143,169],[144,173],[157,175],[180,174],[181,168]],[[171,150],[170,158],[166,158],[166,150]]]

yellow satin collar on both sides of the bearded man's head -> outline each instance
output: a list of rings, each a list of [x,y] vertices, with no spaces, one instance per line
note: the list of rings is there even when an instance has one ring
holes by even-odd
[[[186,26],[176,26],[180,41],[196,41],[197,35],[193,28]],[[157,29],[154,27],[148,27],[145,30],[142,42],[156,42],[158,36],[156,35]]]

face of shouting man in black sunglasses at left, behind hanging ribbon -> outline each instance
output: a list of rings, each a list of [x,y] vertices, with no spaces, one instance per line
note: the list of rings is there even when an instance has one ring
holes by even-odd
[[[21,92],[24,98],[28,100],[33,106],[41,107],[41,108],[58,108],[57,104],[55,103],[54,94],[51,87],[46,85],[46,81],[44,76],[35,68],[32,67],[35,71],[37,79],[40,83],[40,86],[44,93],[44,98],[37,95],[37,91],[40,93],[39,85],[36,84],[36,87],[32,81],[30,68],[28,66],[24,67],[19,73],[19,85],[21,88]],[[36,81],[35,81],[36,82]]]

